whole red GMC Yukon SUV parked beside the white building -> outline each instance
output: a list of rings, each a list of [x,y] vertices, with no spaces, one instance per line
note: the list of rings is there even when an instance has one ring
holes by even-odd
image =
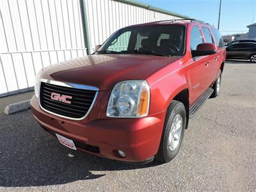
[[[74,150],[171,161],[189,118],[220,93],[220,32],[196,20],[164,20],[120,29],[97,47],[38,73],[33,116]]]

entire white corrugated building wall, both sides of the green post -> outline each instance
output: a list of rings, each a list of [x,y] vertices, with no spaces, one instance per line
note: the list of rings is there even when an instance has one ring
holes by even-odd
[[[90,52],[117,29],[177,19],[114,0],[84,0]],[[0,1],[0,97],[33,89],[43,67],[86,55],[79,0]]]

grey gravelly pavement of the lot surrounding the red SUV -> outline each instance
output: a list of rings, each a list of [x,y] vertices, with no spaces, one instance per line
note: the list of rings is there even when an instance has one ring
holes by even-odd
[[[45,133],[30,110],[1,113],[0,190],[255,191],[255,74],[255,64],[227,61],[220,96],[190,120],[178,156],[167,164],[76,152]]]

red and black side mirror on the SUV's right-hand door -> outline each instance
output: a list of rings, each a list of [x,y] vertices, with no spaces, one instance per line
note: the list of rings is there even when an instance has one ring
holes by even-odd
[[[196,47],[196,50],[192,50],[191,54],[193,58],[197,56],[206,56],[210,54],[215,54],[217,52],[217,47],[214,44],[204,43],[199,44]]]

